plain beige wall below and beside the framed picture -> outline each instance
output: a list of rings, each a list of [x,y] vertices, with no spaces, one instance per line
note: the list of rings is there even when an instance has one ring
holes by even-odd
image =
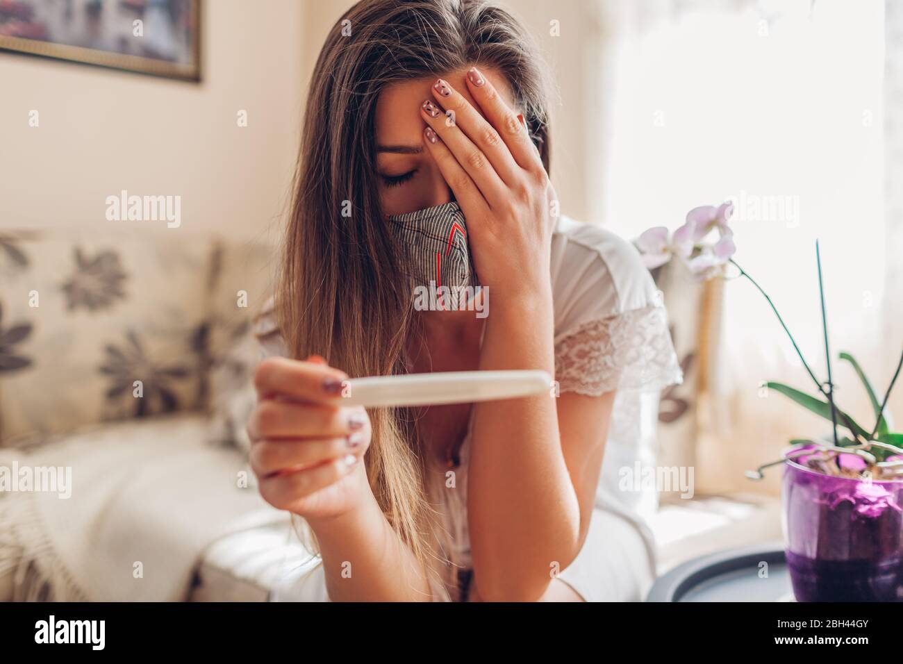
[[[297,0],[214,0],[200,84],[0,53],[0,229],[163,229],[106,220],[126,189],[182,196],[178,232],[260,237],[292,175],[303,42]]]

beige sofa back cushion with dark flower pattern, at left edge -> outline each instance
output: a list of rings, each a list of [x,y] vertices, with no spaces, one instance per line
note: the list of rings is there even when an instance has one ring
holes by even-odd
[[[0,234],[0,444],[205,404],[209,240]]]

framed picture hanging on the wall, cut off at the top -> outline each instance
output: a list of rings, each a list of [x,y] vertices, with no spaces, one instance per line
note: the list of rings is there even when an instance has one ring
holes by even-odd
[[[200,0],[0,0],[0,50],[200,80]]]

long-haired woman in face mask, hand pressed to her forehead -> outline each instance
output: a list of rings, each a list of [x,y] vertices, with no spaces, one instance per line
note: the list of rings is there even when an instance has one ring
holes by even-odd
[[[637,251],[557,214],[537,53],[483,0],[363,0],[323,46],[257,322],[284,357],[248,424],[263,497],[322,556],[293,598],[638,600],[655,574],[650,495],[616,475],[653,462],[627,395],[680,371]],[[436,219],[461,230],[457,272],[421,260]],[[442,276],[482,290],[415,307]],[[341,405],[348,377],[470,369],[545,369],[557,398]]]

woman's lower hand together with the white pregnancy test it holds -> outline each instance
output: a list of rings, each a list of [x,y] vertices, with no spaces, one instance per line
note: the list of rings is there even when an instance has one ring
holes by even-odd
[[[545,394],[542,370],[450,371],[348,379],[326,360],[270,358],[258,366],[247,427],[265,500],[308,519],[345,513],[368,494],[358,463],[371,440],[366,408],[413,407]],[[328,490],[328,491],[324,491]]]

